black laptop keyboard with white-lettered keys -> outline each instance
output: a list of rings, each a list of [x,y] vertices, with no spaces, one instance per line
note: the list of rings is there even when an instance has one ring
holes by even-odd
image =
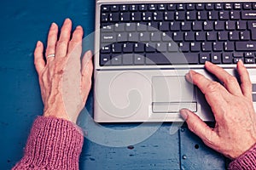
[[[101,66],[255,64],[256,3],[101,6]]]

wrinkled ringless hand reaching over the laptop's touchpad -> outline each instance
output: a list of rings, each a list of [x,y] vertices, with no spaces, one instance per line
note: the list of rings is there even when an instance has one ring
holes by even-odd
[[[224,156],[235,159],[256,143],[256,114],[253,110],[252,83],[241,61],[237,64],[241,85],[236,77],[232,77],[218,65],[207,62],[205,67],[207,71],[224,82],[224,86],[195,71],[189,71],[186,78],[205,94],[216,120],[215,127],[208,127],[189,110],[183,109],[180,113],[188,123],[189,129],[205,144]]]

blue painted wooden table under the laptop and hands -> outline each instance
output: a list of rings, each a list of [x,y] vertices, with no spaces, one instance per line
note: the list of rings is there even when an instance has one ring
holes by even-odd
[[[61,26],[67,17],[74,26],[83,26],[87,36],[94,31],[94,13],[92,0],[1,1],[0,169],[10,169],[20,160],[32,122],[42,115],[44,105],[33,65],[36,42],[46,42],[51,22]],[[79,117],[87,131],[80,169],[225,168],[224,156],[207,148],[185,126],[171,122],[98,125],[90,119],[92,103],[90,94]]]

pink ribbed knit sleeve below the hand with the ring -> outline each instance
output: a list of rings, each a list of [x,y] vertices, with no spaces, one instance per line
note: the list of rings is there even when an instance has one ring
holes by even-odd
[[[38,116],[23,158],[13,169],[79,169],[84,137],[72,122]]]

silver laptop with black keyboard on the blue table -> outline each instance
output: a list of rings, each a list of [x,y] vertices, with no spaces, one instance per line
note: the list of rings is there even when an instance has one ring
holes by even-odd
[[[213,122],[185,79],[193,69],[216,80],[207,60],[237,77],[242,59],[256,101],[256,1],[197,2],[96,0],[96,122],[183,122],[182,108]]]

